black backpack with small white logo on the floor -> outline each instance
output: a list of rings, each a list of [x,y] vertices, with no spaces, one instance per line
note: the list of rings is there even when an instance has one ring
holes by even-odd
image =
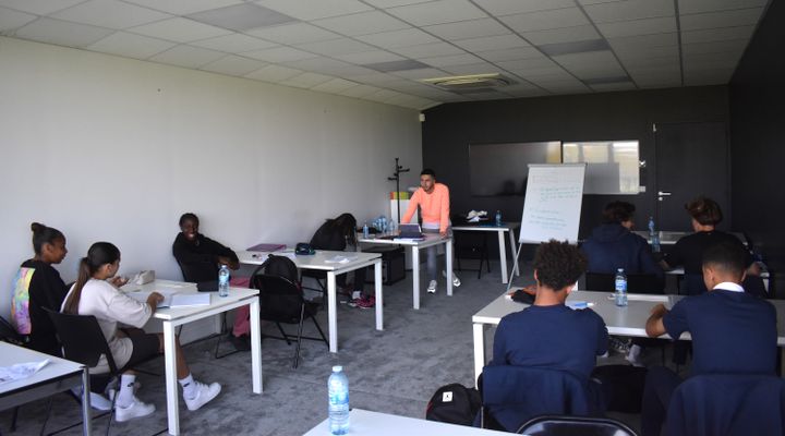
[[[481,405],[482,398],[476,389],[454,383],[436,389],[425,409],[425,419],[471,426]]]

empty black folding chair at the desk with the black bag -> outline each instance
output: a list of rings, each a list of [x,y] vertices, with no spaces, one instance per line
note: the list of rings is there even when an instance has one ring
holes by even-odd
[[[275,323],[281,332],[280,337],[265,337],[281,339],[287,341],[288,344],[291,344],[291,339],[297,341],[292,367],[298,367],[300,361],[300,343],[303,339],[321,340],[329,348],[329,342],[315,317],[319,305],[318,303],[306,301],[303,298],[302,288],[300,288],[298,283],[283,277],[259,274],[251,277],[251,284],[259,290],[259,318]],[[306,318],[313,320],[321,338],[302,336],[303,323]],[[297,335],[287,334],[281,324],[298,324]]]

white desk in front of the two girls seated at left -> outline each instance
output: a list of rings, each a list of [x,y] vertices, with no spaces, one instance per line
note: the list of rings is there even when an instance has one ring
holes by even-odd
[[[194,283],[180,281],[155,280],[147,284],[126,284],[123,290],[130,291],[177,290],[178,292],[197,292]],[[251,306],[251,377],[253,392],[262,393],[262,329],[259,326],[258,290],[246,288],[229,288],[229,296],[218,296],[218,292],[209,292],[210,304],[159,308],[153,315],[164,324],[164,366],[166,368],[167,415],[169,434],[180,434],[180,416],[178,409],[178,379],[174,349],[174,330],[178,326],[206,318],[244,305]]]

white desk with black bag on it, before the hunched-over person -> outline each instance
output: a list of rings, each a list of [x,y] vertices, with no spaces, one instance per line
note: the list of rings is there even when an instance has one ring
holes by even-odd
[[[262,252],[238,252],[241,264],[262,265],[269,253]],[[314,269],[327,272],[327,319],[329,324],[329,350],[333,353],[338,352],[338,313],[336,306],[338,299],[336,296],[336,276],[353,271],[355,269],[365,268],[374,265],[374,288],[376,302],[376,329],[384,329],[384,295],[382,294],[382,255],[378,253],[360,253],[360,252],[331,252],[326,250],[317,250],[313,255],[293,255],[291,251],[275,252],[274,255],[288,255],[300,269]],[[335,256],[351,257],[352,261],[346,264],[327,263]]]

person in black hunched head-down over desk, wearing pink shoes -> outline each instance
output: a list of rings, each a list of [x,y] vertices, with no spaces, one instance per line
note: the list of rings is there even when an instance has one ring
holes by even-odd
[[[326,220],[311,238],[311,246],[315,250],[330,250],[342,252],[347,245],[357,247],[357,219],[351,214],[341,214],[336,218]],[[347,275],[336,277],[336,284],[346,287]],[[352,288],[352,301],[354,307],[370,308],[374,306],[374,298],[363,294],[365,284],[365,268],[354,270],[354,286]]]

